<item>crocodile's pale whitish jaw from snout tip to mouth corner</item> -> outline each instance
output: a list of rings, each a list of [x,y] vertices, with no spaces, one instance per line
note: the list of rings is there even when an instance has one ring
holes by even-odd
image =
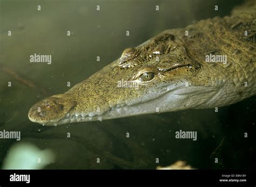
[[[112,107],[109,107],[105,112],[83,112],[76,111],[73,108],[69,112],[66,112],[64,117],[58,118],[56,120],[38,120],[38,118],[33,118],[31,115],[29,115],[29,118],[35,123],[46,126],[57,126],[84,121],[102,121],[106,119],[137,116],[139,114],[171,112],[196,107],[200,108],[205,103],[207,103],[206,98],[212,97],[216,94],[217,90],[220,89],[215,87],[185,87],[184,85],[180,85],[180,87],[174,88],[170,85],[163,86],[163,88],[160,90],[161,91],[155,93],[153,96],[144,96],[145,98],[151,97],[151,99],[140,98],[123,105],[116,104]],[[198,95],[199,92],[201,93],[200,95]],[[145,102],[142,102],[142,100],[145,100]],[[194,103],[193,101],[197,102]]]

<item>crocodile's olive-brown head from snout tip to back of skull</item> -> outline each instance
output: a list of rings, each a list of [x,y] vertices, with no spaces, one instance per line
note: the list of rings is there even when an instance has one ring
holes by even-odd
[[[215,92],[211,81],[200,79],[203,69],[183,41],[162,33],[125,49],[118,60],[69,91],[35,104],[29,119],[60,125],[197,108]]]

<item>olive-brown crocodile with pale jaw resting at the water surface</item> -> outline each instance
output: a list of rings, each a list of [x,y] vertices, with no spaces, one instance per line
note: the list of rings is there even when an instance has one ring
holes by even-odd
[[[254,96],[256,2],[230,16],[166,30],[29,110],[31,121],[57,126],[82,121],[208,109]]]

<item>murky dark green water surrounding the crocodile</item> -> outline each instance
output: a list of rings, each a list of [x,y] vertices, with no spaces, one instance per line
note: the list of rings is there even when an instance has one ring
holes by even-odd
[[[33,104],[65,92],[67,82],[72,87],[85,80],[116,60],[125,48],[169,28],[228,15],[242,1],[0,2],[0,131],[21,131],[21,141],[0,139],[0,168],[17,143],[51,150],[55,159],[44,166],[49,169],[156,169],[177,160],[194,168],[255,166],[255,97],[218,112],[185,110],[57,127],[43,127],[28,119]],[[214,11],[214,5],[219,11]],[[34,53],[51,54],[52,63],[30,63]],[[176,139],[179,130],[197,131],[197,141]],[[10,162],[18,168],[23,161],[16,156]]]

